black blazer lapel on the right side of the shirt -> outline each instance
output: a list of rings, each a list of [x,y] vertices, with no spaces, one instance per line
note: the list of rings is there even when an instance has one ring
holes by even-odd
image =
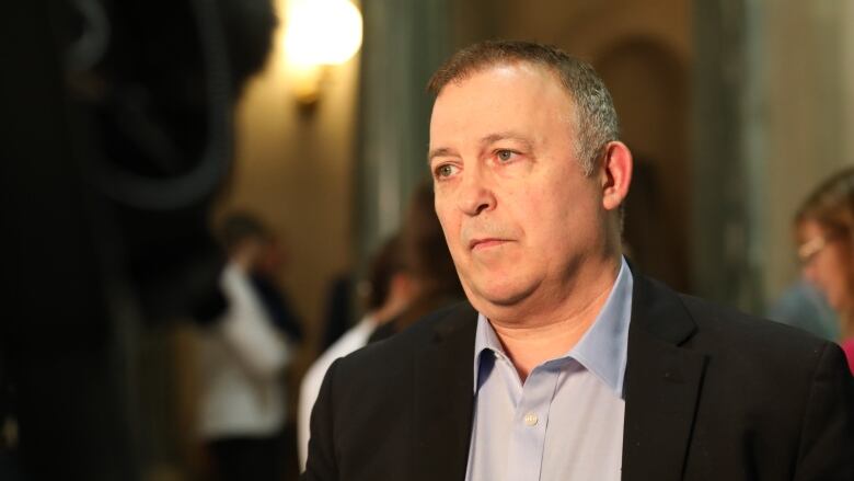
[[[623,480],[682,479],[706,358],[680,345],[695,330],[676,293],[635,276]]]

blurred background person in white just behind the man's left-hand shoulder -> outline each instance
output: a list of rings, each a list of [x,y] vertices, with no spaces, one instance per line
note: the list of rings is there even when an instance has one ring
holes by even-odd
[[[409,305],[415,286],[412,276],[404,268],[399,237],[389,239],[370,265],[368,282],[363,285],[367,313],[358,324],[348,330],[311,365],[300,386],[299,412],[297,419],[300,469],[305,468],[309,456],[309,417],[318,399],[321,382],[330,365],[338,357],[365,346],[371,333],[394,319]]]

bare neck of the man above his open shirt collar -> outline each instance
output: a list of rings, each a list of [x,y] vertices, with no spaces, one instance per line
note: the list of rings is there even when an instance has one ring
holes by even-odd
[[[551,306],[549,312],[529,311],[524,319],[509,321],[489,319],[522,382],[534,367],[578,344],[608,300],[621,265],[622,256],[605,264],[592,279],[576,282],[572,293]]]

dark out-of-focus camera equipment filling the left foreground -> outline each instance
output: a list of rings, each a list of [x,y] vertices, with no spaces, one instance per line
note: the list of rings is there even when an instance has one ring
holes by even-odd
[[[135,343],[224,307],[208,211],[275,24],[265,0],[2,8],[0,479],[141,477]]]

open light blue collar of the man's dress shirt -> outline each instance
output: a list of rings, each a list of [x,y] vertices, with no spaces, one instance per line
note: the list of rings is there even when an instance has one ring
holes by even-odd
[[[632,318],[632,288],[634,279],[625,257],[621,260],[620,274],[608,295],[604,306],[578,343],[565,355],[547,363],[573,358],[623,397],[623,379],[628,351],[628,323]],[[478,388],[482,354],[485,351],[505,356],[498,335],[482,313],[477,316],[474,337],[474,390]]]

